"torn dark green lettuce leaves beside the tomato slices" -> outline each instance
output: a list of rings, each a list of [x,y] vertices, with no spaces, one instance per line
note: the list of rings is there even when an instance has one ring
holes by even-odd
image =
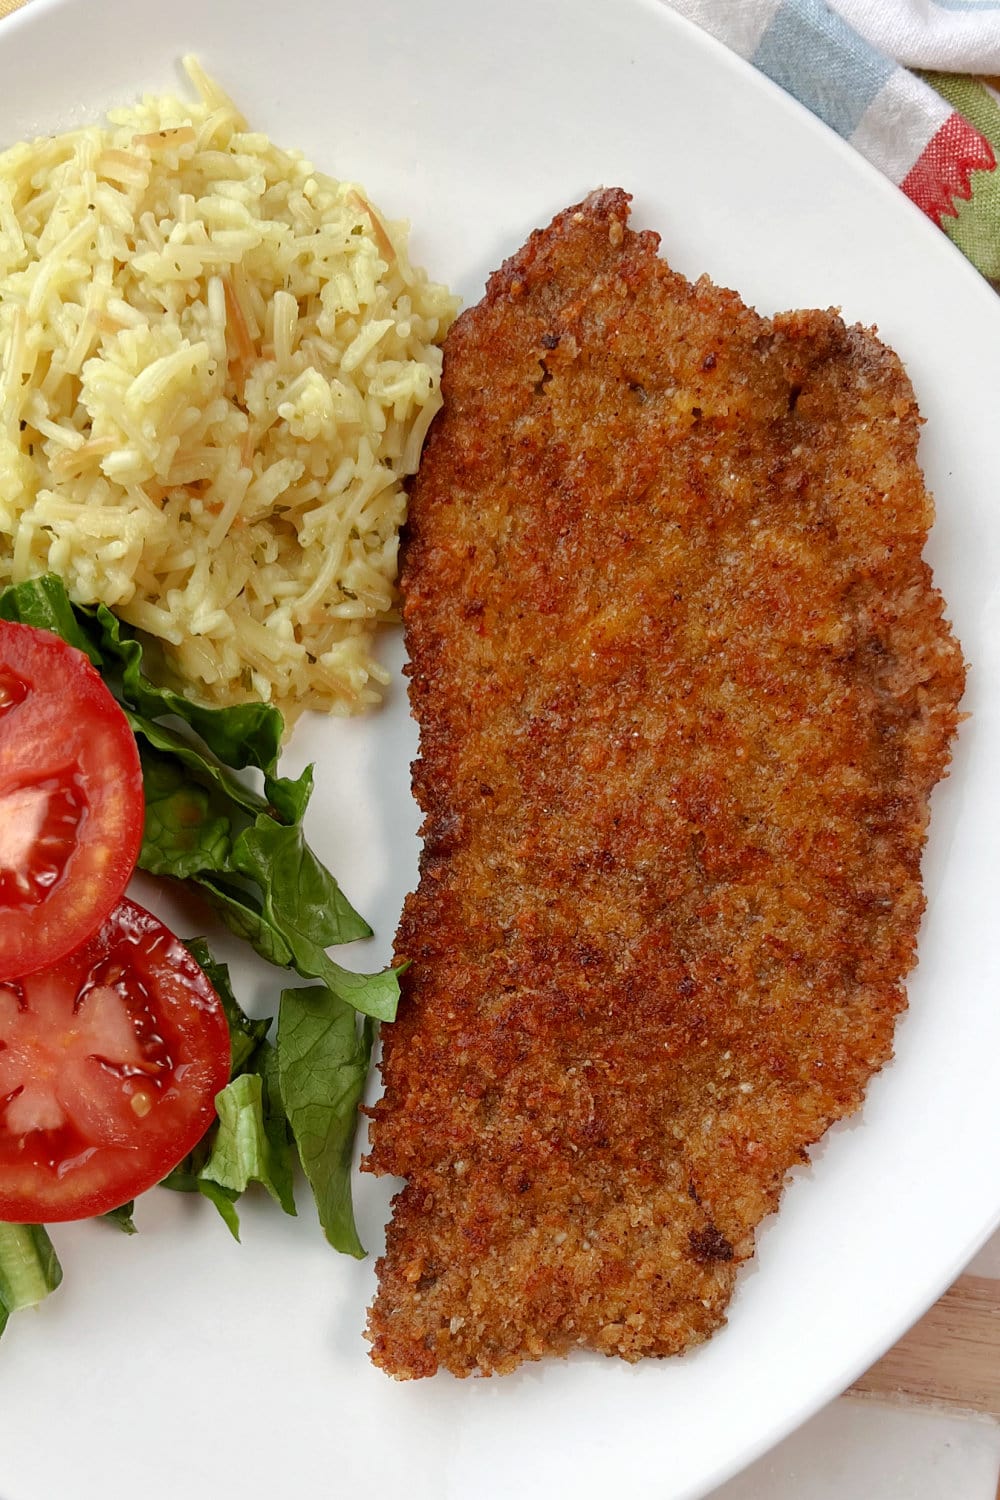
[[[376,1023],[394,1017],[399,982],[391,969],[354,974],[327,952],[370,927],[306,843],[312,766],[297,780],[277,774],[283,722],[274,708],[205,708],[157,687],[129,627],[102,604],[73,604],[55,576],[0,592],[0,618],[84,651],[124,710],[145,792],[139,868],[193,886],[262,958],[318,981],[282,988],[271,1040],[271,1018],[244,1014],[204,938],[187,942],[225,1008],[232,1070],[217,1120],[162,1185],[210,1198],[238,1238],[235,1204],[253,1182],[295,1212],[298,1161],[328,1242],[363,1256],[352,1143]],[[237,774],[246,771],[259,772],[259,790]],[[105,1216],[133,1233],[130,1204]],[[43,1227],[0,1226],[0,1332],[10,1311],[60,1280]]]

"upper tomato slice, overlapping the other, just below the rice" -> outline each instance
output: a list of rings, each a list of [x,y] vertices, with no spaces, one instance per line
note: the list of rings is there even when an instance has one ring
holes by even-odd
[[[142,814],[135,736],[87,657],[0,620],[0,980],[97,930],[135,868]]]

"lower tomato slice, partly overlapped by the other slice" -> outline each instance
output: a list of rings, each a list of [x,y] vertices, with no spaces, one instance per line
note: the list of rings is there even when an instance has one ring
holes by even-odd
[[[121,900],[82,948],[0,984],[0,1220],[127,1203],[181,1161],[229,1080],[219,996],[169,928]]]

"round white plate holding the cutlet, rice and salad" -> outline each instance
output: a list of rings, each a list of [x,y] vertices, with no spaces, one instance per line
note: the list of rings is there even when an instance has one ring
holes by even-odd
[[[931,558],[973,718],[934,798],[897,1060],[798,1174],[711,1344],[393,1384],[361,1341],[372,1262],[328,1251],[304,1196],[297,1221],[247,1210],[238,1246],[208,1204],[153,1192],[136,1239],[58,1233],[63,1288],[4,1335],[0,1492],[702,1496],[841,1390],[1000,1216],[1000,308],[895,189],[655,0],[33,0],[0,26],[0,140],[172,87],[186,51],[261,129],[408,214],[466,302],[604,183],[685,273],[877,322],[928,418]],[[415,876],[412,752],[397,680],[387,712],[303,724],[289,756],[321,762],[313,842],[376,922],[369,962]],[[388,1196],[358,1186],[369,1245]]]

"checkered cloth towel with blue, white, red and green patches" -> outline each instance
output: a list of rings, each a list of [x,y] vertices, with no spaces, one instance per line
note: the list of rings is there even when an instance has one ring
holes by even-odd
[[[1000,74],[1000,0],[667,3],[856,146],[1000,280],[1000,104],[978,76]]]

